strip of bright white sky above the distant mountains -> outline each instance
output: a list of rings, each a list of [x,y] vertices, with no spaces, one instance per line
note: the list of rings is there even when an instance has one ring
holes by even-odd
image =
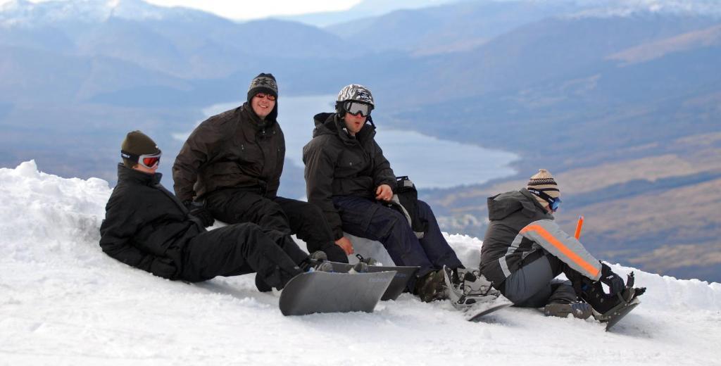
[[[0,6],[10,0],[0,0]],[[40,2],[47,0],[30,0]],[[117,0],[108,0],[108,2]],[[361,0],[146,0],[161,6],[185,6],[231,19],[256,19],[271,15],[297,15],[346,10]]]

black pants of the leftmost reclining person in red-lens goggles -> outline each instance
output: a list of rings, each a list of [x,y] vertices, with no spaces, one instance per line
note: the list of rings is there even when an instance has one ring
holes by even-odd
[[[297,264],[307,257],[292,241],[273,241],[260,226],[231,225],[190,239],[183,251],[179,278],[198,282],[257,272],[268,285],[283,288],[301,273]]]

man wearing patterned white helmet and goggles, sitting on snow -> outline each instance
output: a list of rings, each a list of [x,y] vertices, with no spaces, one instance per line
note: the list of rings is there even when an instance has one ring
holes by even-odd
[[[314,117],[313,139],[303,148],[308,201],[320,207],[336,244],[353,253],[344,231],[380,241],[397,265],[420,266],[409,290],[425,301],[443,298],[443,265],[462,267],[441,234],[428,204],[417,201],[423,223],[418,238],[407,218],[389,207],[397,181],[374,139],[371,112],[376,104],[365,86],[350,84],[338,93],[335,113]]]

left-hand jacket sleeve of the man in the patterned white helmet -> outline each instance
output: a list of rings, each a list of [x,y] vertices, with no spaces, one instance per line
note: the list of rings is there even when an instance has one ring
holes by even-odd
[[[334,240],[343,236],[342,221],[333,205],[333,175],[335,159],[324,150],[322,143],[311,140],[303,148],[303,162],[306,164],[304,172],[306,178],[306,195],[308,202],[318,206],[333,230]]]

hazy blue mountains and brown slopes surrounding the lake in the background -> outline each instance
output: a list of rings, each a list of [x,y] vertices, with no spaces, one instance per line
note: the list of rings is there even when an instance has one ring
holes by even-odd
[[[16,0],[0,10],[0,165],[112,182],[128,130],[172,156],[171,133],[244,99],[257,73],[278,77],[279,102],[360,82],[376,123],[521,156],[516,177],[422,189],[444,230],[482,236],[486,197],[546,168],[564,187],[558,220],[572,231],[586,215],[594,253],[721,281],[720,14],[717,1],[479,0],[317,27]]]

